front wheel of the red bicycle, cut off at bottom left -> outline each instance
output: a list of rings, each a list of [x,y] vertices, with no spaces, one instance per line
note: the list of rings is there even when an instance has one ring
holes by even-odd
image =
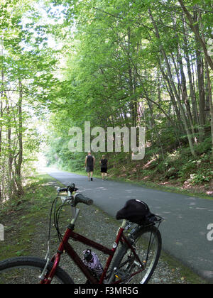
[[[4,260],[0,262],[0,283],[2,284],[32,284],[32,283],[40,283],[40,280],[38,278],[39,274],[43,271],[43,268],[45,267],[46,260],[35,258],[35,257],[17,257],[17,258],[11,258],[8,260]],[[49,262],[47,270],[50,272],[50,270],[53,267],[53,263]],[[21,271],[22,270],[22,271]],[[23,272],[26,273],[24,276],[21,275]],[[33,279],[33,282],[30,282],[30,276],[34,273],[31,273],[31,275],[28,273],[28,270],[35,270],[36,275],[35,280]],[[8,274],[8,271],[13,271],[11,274]],[[34,272],[34,271],[33,271]],[[59,282],[62,284],[73,284],[73,280],[70,277],[70,275],[65,272],[65,270],[62,270],[61,267],[58,267],[55,272],[54,277],[54,283]]]

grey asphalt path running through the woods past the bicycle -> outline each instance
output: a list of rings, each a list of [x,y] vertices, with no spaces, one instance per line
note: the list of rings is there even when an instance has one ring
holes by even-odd
[[[146,202],[153,213],[165,219],[160,226],[163,250],[205,280],[213,282],[213,241],[207,237],[210,232],[207,226],[213,223],[213,200],[162,192],[126,182],[97,178],[89,182],[86,176],[51,168],[46,168],[45,172],[65,186],[75,183],[82,194],[93,199],[94,204],[110,216],[115,217],[129,199]]]

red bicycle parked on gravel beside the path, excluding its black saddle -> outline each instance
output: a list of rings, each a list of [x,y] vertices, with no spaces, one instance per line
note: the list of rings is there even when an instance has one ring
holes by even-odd
[[[67,197],[62,197],[62,204],[57,209],[56,205],[58,199],[61,199],[61,192],[67,192]],[[60,239],[60,245],[53,258],[50,258],[48,245],[48,253],[44,260],[35,257],[4,260],[0,262],[1,284],[73,284],[72,277],[59,266],[62,253],[67,253],[70,256],[83,272],[87,283],[90,284],[145,284],[150,280],[160,257],[161,236],[158,228],[163,219],[160,216],[155,216],[153,221],[143,225],[124,219],[114,245],[110,249],[75,233],[75,224],[80,213],[77,204],[93,204],[92,199],[76,192],[75,184],[58,189],[58,197],[53,202],[51,215],[54,214],[55,228]],[[62,236],[59,231],[60,211],[67,204],[72,207],[72,221],[67,226],[65,235]],[[84,252],[84,259],[80,258],[70,245],[70,239],[109,255],[104,268],[99,263],[97,255],[93,254],[91,250]],[[48,243],[50,243],[50,230]],[[97,258],[97,264],[94,264],[94,258]],[[91,264],[97,266],[92,267]]]

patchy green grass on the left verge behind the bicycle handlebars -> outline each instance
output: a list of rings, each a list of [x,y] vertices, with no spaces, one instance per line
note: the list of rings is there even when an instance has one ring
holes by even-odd
[[[48,175],[38,175],[26,187],[21,204],[4,204],[0,209],[0,222],[4,225],[4,241],[0,242],[0,260],[28,255],[36,228],[50,210],[55,197],[55,180]],[[48,219],[47,219],[48,221]]]

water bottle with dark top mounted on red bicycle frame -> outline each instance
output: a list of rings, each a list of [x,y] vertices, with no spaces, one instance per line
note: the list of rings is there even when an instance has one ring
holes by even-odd
[[[100,278],[104,272],[102,264],[100,263],[99,257],[96,253],[92,252],[90,249],[84,250],[84,265],[92,272],[94,277]]]

